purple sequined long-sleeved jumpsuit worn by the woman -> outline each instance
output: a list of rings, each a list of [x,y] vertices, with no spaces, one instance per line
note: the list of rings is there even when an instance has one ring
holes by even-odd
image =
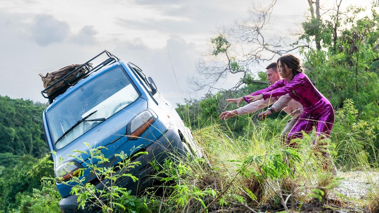
[[[319,139],[329,137],[334,124],[334,110],[330,102],[313,86],[307,75],[299,73],[293,77],[291,83],[288,79],[280,79],[266,89],[258,90],[251,94],[256,96],[263,94],[264,99],[269,97],[283,96],[289,93],[291,98],[301,103],[304,112],[300,115],[298,121],[293,126],[287,136],[287,144],[291,147],[296,143],[290,143],[291,139],[301,138],[303,130],[306,133],[316,127]],[[244,97],[247,101],[247,98]],[[324,140],[325,141],[325,140]],[[315,141],[313,141],[313,144]],[[326,145],[324,144],[320,145]],[[322,152],[323,155],[326,153]]]

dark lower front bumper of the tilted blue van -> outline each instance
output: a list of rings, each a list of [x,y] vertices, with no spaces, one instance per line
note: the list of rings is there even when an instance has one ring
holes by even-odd
[[[183,147],[183,142],[180,139],[177,129],[168,130],[158,140],[154,141],[149,147],[146,147],[148,155],[140,155],[136,157],[133,162],[139,161],[141,165],[130,169],[127,173],[130,173],[138,178],[138,181],[133,182],[130,178],[125,178],[116,183],[119,187],[127,188],[131,190],[132,195],[136,195],[145,188],[151,186],[157,178],[153,177],[156,172],[151,166],[150,162],[155,160],[158,165],[162,165],[164,159],[169,156],[172,157],[174,153],[177,157],[184,157],[186,155],[186,149]],[[103,189],[102,183],[96,183],[96,188]],[[100,208],[88,206],[85,209],[78,209],[77,203],[78,196],[73,194],[68,197],[62,198],[59,202],[59,207],[63,213],[89,213],[89,212],[102,212]]]

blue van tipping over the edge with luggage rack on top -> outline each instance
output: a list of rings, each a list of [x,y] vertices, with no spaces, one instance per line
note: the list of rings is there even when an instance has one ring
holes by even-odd
[[[106,59],[97,66],[88,67],[104,56]],[[149,153],[133,159],[141,162],[129,171],[138,177],[138,182],[125,178],[117,183],[132,190],[132,194],[140,193],[154,182],[152,175],[156,170],[150,164],[153,160],[162,164],[172,153],[204,157],[174,107],[138,66],[104,50],[77,69],[83,67],[88,73],[62,94],[47,97],[45,91],[49,88],[41,91],[50,103],[43,113],[43,127],[56,176],[67,181],[77,169],[85,167],[91,156],[80,153],[78,157],[85,162],[70,156],[75,149],[88,151],[85,143],[106,147],[101,151],[110,159],[108,166],[120,161],[114,154],[128,153],[133,147],[139,147],[135,152]],[[60,80],[64,81],[65,77]],[[103,187],[91,172],[83,175],[86,183]],[[62,197],[59,203],[62,212],[96,212],[78,209],[77,196],[70,194],[71,186],[59,182],[56,186]]]

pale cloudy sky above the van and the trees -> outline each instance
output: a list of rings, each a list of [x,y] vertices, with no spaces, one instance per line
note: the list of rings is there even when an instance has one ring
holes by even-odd
[[[355,3],[344,0],[342,6]],[[0,95],[47,102],[38,74],[83,63],[106,49],[141,67],[173,105],[199,99],[204,94],[193,92],[188,79],[196,76],[211,38],[246,18],[253,5],[268,1],[0,0]],[[307,0],[277,0],[272,34],[299,31],[307,8]],[[235,82],[228,78],[220,86]]]

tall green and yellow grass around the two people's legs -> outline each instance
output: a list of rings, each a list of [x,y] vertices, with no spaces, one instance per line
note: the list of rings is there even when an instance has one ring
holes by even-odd
[[[287,151],[280,146],[277,131],[281,130],[285,121],[286,118],[277,119],[276,124],[249,122],[245,128],[247,133],[238,137],[227,125],[217,123],[193,131],[209,166],[205,168],[201,159],[187,159],[179,164],[166,162],[160,172],[168,176],[163,180],[167,187],[165,196],[154,198],[155,202],[161,202],[157,211],[307,211],[309,208],[365,208],[371,212],[378,211],[379,188],[377,180],[371,178],[377,171],[377,161],[362,152],[362,144],[375,149],[373,139],[362,141],[359,133],[332,133],[327,149],[340,175],[333,176],[322,169],[315,147],[311,145],[315,139],[314,132],[298,139],[296,154],[290,153],[290,156],[298,155],[301,160],[291,164],[290,173],[286,173],[284,168],[282,173],[278,173],[279,176],[266,175],[278,168],[280,170],[280,166],[276,165],[280,162],[275,156],[286,155]],[[277,127],[273,128],[273,125]],[[377,153],[377,150],[374,152]],[[256,161],[257,158],[261,161]],[[246,163],[248,159],[255,160]],[[243,166],[245,170],[241,172]],[[348,194],[340,194],[338,190],[343,187],[340,186],[343,172],[356,169],[366,174],[363,178],[369,183],[369,193],[361,200],[363,202],[355,202]],[[290,198],[283,203],[288,194],[291,194]]]

